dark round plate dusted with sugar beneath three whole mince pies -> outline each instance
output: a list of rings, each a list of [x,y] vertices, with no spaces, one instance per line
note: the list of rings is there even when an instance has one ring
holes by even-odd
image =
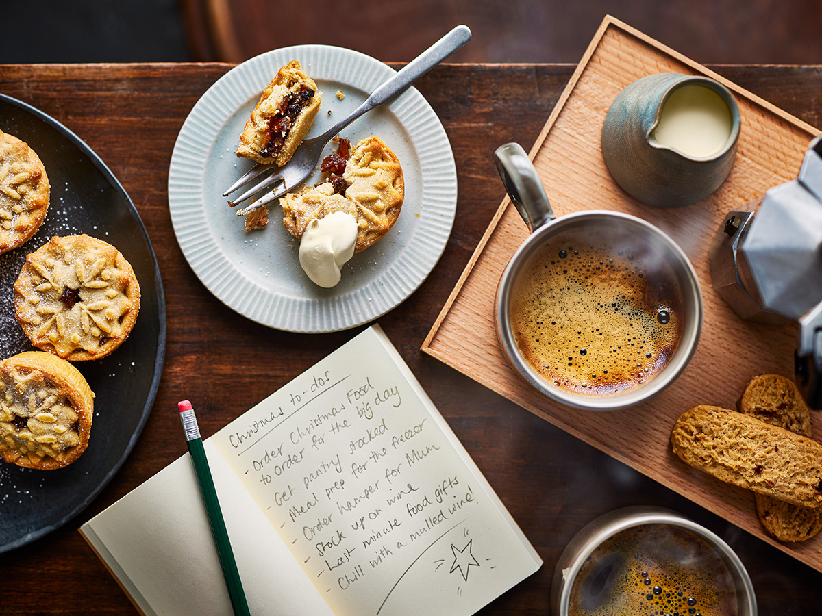
[[[141,288],[140,314],[126,342],[99,361],[76,362],[95,392],[89,448],[57,471],[0,459],[0,552],[62,526],[103,490],[131,453],[148,419],[165,357],[165,297],[154,249],[117,178],[65,126],[0,94],[0,130],[39,155],[51,184],[48,214],[35,237],[0,255],[0,357],[35,350],[14,318],[12,285],[25,255],[52,236],[86,233],[117,246]]]

